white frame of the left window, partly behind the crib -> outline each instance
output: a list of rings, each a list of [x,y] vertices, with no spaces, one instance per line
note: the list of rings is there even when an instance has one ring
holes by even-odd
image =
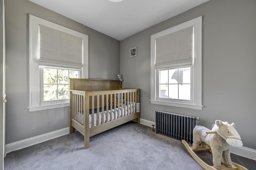
[[[68,34],[78,36],[83,39],[83,67],[81,68],[80,78],[88,78],[88,36],[80,32],[76,32],[64,26],[60,26],[53,22],[49,22],[42,18],[38,18],[29,14],[29,111],[42,111],[48,109],[56,109],[69,107],[69,102],[50,103],[49,105],[40,105],[40,68],[38,63],[38,34],[39,25],[66,32]],[[47,66],[47,65],[45,65]],[[52,65],[51,65],[52,66]],[[56,67],[67,67],[66,65],[56,64]],[[72,67],[68,67],[72,69]]]

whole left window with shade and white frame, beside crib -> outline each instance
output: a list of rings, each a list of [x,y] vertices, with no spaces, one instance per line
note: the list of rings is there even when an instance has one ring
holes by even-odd
[[[69,78],[88,78],[88,36],[29,15],[29,111],[69,106]]]

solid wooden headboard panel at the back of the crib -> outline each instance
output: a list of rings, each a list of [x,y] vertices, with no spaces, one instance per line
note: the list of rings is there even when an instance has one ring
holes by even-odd
[[[119,89],[121,89],[121,81],[119,80],[70,78],[70,90],[106,91]]]

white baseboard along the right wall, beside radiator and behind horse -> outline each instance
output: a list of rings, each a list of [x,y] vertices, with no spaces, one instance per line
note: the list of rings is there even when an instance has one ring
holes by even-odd
[[[145,120],[145,119],[140,119],[140,124],[146,125],[148,127],[152,127],[152,125],[156,125],[155,122],[148,121],[148,120]],[[252,160],[256,160],[256,150],[251,149],[251,148],[247,148],[247,147],[244,147],[244,146],[239,147],[239,148],[231,146],[231,153],[239,155],[239,156],[243,156],[245,158],[249,158],[249,159],[252,159]]]

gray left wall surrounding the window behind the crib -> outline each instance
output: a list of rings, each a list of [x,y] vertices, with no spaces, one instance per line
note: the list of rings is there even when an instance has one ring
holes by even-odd
[[[28,0],[6,0],[6,144],[69,126],[69,107],[29,112],[28,14],[89,36],[89,78],[117,79],[120,41]]]

